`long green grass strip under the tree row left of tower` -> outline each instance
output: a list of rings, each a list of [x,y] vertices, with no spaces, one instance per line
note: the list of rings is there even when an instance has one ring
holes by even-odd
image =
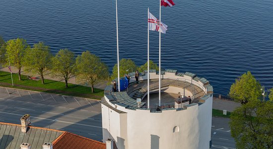
[[[18,79],[18,74],[12,74],[12,78],[14,86],[11,85],[10,73],[0,71],[0,86],[48,93],[57,93],[91,99],[100,99],[104,96],[104,90],[97,88],[94,88],[94,93],[92,93],[91,87],[68,83],[69,88],[65,88],[65,82],[50,79],[45,79],[45,84],[43,85],[41,80],[27,79],[26,75],[21,75],[22,80]]]

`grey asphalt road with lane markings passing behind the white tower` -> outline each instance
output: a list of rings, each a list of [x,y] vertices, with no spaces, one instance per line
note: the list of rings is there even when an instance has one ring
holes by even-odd
[[[101,105],[97,100],[0,87],[0,122],[20,124],[24,114],[31,115],[33,126],[102,140]],[[212,149],[235,149],[228,122],[212,118]]]

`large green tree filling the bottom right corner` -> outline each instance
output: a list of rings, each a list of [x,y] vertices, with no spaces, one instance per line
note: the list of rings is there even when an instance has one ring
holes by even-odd
[[[230,120],[237,149],[273,149],[272,101],[250,101],[235,109]]]

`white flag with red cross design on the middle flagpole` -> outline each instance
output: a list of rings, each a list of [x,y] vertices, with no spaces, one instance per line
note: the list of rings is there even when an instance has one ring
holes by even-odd
[[[158,31],[161,33],[166,33],[167,30],[167,25],[159,21],[156,17],[154,17],[151,12],[149,12],[149,17],[148,17],[148,22],[149,22],[149,30],[153,31]]]

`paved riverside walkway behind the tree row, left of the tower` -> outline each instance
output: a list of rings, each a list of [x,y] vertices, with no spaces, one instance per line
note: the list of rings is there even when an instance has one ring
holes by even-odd
[[[0,65],[0,71],[9,72],[9,70],[8,70],[7,67],[6,68],[2,68],[1,65]],[[14,74],[18,73],[18,70],[15,67],[12,67],[12,66],[11,66],[11,71]],[[39,74],[32,74],[32,73],[24,72],[23,69],[21,70],[21,74],[23,74],[23,75],[29,75],[29,76],[32,76],[32,77],[41,77]],[[51,80],[65,82],[64,78],[56,77],[55,75],[53,75],[53,74],[51,74],[49,72],[44,74],[44,78],[45,79],[51,79]],[[68,79],[68,83],[71,83],[71,84],[80,84],[80,85],[83,85],[83,86],[87,86],[86,83],[80,82],[79,80],[76,80],[75,76],[72,76],[71,78],[69,78]],[[103,81],[103,82],[99,82],[97,84],[94,84],[94,87],[104,90],[104,88],[106,87],[106,85],[107,85],[107,81]]]

